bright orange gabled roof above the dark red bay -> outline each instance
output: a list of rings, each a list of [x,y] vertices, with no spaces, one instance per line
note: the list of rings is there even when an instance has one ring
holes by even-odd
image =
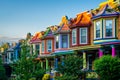
[[[92,15],[87,11],[78,14],[76,16],[76,18],[71,19],[70,28],[90,26],[91,25],[91,17],[92,17]]]

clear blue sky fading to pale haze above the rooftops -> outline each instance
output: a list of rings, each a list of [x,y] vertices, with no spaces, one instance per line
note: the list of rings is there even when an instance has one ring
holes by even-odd
[[[58,25],[62,16],[97,8],[106,0],[0,0],[0,41],[25,38]]]

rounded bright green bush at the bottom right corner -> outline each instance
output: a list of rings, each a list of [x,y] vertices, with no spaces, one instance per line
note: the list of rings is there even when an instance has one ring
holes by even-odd
[[[106,55],[94,61],[94,68],[101,80],[120,79],[120,59]]]

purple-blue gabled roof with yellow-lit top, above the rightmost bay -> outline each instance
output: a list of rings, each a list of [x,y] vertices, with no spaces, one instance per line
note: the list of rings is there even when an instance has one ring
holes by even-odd
[[[101,3],[99,8],[93,12],[94,15],[92,19],[107,16],[117,16],[119,12],[114,9],[116,6],[117,4],[113,0]]]

